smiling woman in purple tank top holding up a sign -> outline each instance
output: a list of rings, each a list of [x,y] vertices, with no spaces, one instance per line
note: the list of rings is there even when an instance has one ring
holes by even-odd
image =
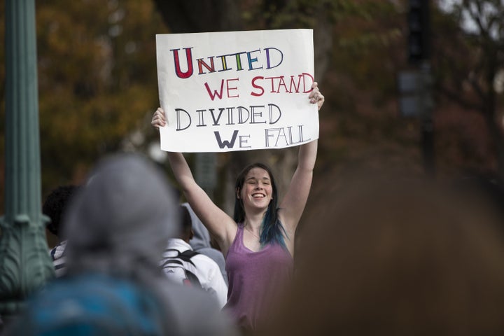
[[[309,102],[320,110],[324,97],[317,83],[312,89]],[[166,125],[162,109],[155,111],[151,124]],[[186,200],[226,257],[229,290],[224,309],[244,330],[265,323],[273,298],[290,279],[295,231],[308,199],[316,151],[317,140],[300,146],[297,168],[281,202],[269,168],[260,163],[246,167],[236,181],[234,218],[197,185],[182,153],[168,152]]]

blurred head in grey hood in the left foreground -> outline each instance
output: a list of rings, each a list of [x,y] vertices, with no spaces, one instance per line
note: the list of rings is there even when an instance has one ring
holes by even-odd
[[[100,161],[71,202],[64,225],[69,274],[150,276],[180,232],[179,202],[160,169],[135,154]]]

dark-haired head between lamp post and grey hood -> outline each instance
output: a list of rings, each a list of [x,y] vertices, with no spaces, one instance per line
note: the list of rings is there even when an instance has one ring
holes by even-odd
[[[61,232],[60,223],[62,222],[64,211],[69,204],[71,196],[76,193],[76,190],[78,190],[78,186],[59,186],[51,190],[49,195],[45,197],[42,213],[50,218],[47,228],[52,235],[59,237],[59,233]]]

